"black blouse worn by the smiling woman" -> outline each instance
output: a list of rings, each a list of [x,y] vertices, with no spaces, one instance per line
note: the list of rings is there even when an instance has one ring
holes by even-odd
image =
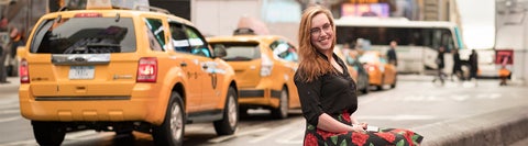
[[[324,55],[321,57],[328,58]],[[317,126],[319,116],[327,113],[332,117],[343,110],[353,113],[358,109],[358,96],[354,80],[346,66],[336,54],[333,59],[343,68],[343,74],[326,74],[310,82],[299,79],[295,74],[295,85],[299,93],[302,115],[307,123]],[[328,60],[328,59],[327,59]],[[298,69],[300,70],[300,69]]]

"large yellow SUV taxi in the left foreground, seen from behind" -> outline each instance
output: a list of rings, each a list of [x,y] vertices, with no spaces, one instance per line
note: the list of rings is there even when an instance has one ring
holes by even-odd
[[[233,134],[238,86],[226,50],[213,52],[187,20],[106,2],[43,15],[18,50],[20,110],[36,142],[96,130],[183,145],[193,122]]]

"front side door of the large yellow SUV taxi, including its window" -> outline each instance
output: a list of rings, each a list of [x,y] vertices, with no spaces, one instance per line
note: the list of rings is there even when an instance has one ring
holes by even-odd
[[[201,108],[202,110],[215,109],[221,98],[220,91],[216,91],[218,86],[217,63],[212,59],[212,52],[205,37],[194,26],[185,25],[185,32],[190,44],[190,53],[198,59],[198,77],[201,88]]]

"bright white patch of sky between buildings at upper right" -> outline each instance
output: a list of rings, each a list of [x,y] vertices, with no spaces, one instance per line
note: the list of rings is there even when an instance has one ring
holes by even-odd
[[[495,0],[455,0],[469,48],[492,48],[495,42]]]

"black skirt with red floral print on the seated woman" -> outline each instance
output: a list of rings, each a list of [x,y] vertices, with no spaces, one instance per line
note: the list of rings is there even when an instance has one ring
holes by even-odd
[[[343,112],[338,121],[351,124],[350,114]],[[307,124],[305,146],[419,146],[424,137],[409,130],[382,128],[377,132],[331,133]]]

